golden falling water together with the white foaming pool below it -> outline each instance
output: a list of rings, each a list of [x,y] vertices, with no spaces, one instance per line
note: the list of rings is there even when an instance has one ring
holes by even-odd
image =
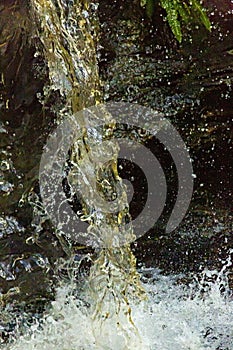
[[[49,70],[45,98],[51,91],[59,93],[53,106],[58,125],[64,118],[102,102],[95,12],[96,5],[86,0],[31,0],[31,16],[37,23],[34,35],[40,38]],[[108,127],[99,134],[90,135],[85,120],[79,120],[82,134],[70,150],[67,181],[75,193],[85,187],[84,180],[77,182],[81,173],[89,191],[94,191],[92,185],[98,182],[104,198],[112,200],[120,194],[117,214],[100,215],[98,206],[82,202],[81,220],[89,225],[88,235],[102,239],[94,256],[85,257],[92,262],[89,275],[79,284],[76,272],[82,260],[75,260],[72,244],[67,243],[69,238],[78,242],[69,235],[64,240],[64,232],[58,232],[70,256],[69,281],[60,282],[55,300],[42,317],[34,315],[27,322],[28,315],[21,313],[12,339],[2,348],[232,350],[233,305],[226,272],[232,252],[220,271],[206,269],[201,279],[192,276],[184,284],[182,275],[164,276],[143,266],[137,271],[130,245],[115,244],[121,235],[134,241],[134,232],[131,226],[124,232],[130,215],[125,185],[117,172],[119,146],[114,142],[110,149],[99,147],[96,158],[90,157],[99,140],[109,138],[115,128],[111,115],[105,110],[102,115]],[[98,160],[106,154],[111,160],[100,167]],[[7,306],[2,317],[8,319],[11,312]]]

